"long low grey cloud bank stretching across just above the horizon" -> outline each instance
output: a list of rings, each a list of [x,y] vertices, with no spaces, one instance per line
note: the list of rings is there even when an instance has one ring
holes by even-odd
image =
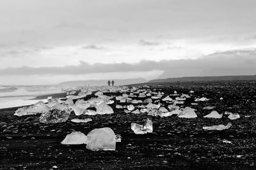
[[[81,61],[77,66],[63,67],[8,67],[0,70],[0,75],[64,75],[115,73],[127,71],[163,70],[166,78],[177,76],[207,76],[226,74],[256,74],[256,50],[234,50],[212,53],[198,59],[141,60],[134,64],[88,64]],[[163,78],[162,76],[162,78]]]

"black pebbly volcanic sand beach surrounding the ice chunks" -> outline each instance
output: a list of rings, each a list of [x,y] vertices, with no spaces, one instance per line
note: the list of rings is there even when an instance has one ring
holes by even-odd
[[[39,115],[15,117],[17,108],[0,110],[0,169],[51,169],[52,166],[58,169],[256,169],[255,81],[151,83],[150,86],[165,94],[173,94],[173,90],[188,94],[194,90],[193,98],[211,100],[191,105],[194,101],[188,99],[184,107],[195,108],[198,118],[152,117],[154,132],[141,135],[132,132],[131,123],[142,124],[147,115],[125,114],[124,110],[115,109],[116,101],[110,104],[115,111],[112,115],[76,117],[72,112],[62,124],[41,124]],[[237,112],[241,118],[203,118],[211,112],[202,110],[204,106],[216,106],[219,113]],[[93,121],[76,124],[70,121],[72,118]],[[228,122],[232,127],[224,131],[202,129],[204,125]],[[60,144],[72,131],[87,134],[100,127],[111,127],[122,136],[115,151],[92,152],[86,150],[86,145]],[[223,139],[232,144],[223,143]]]

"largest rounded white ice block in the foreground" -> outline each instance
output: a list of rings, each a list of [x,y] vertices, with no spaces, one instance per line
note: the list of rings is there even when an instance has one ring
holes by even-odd
[[[100,129],[93,129],[87,134],[88,150],[115,150],[116,149],[116,135],[109,127]]]

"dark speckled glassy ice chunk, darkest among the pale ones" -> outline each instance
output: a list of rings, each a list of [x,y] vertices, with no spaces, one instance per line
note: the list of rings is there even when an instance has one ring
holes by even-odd
[[[47,111],[47,113],[42,113],[39,120],[44,124],[62,123],[68,120],[69,115],[69,110],[59,110],[52,108],[51,110]]]

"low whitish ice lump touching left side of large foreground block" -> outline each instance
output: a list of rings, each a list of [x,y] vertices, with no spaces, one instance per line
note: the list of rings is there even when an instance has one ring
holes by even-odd
[[[66,138],[61,141],[62,145],[80,145],[87,143],[87,136],[82,132],[72,132],[67,134]]]

